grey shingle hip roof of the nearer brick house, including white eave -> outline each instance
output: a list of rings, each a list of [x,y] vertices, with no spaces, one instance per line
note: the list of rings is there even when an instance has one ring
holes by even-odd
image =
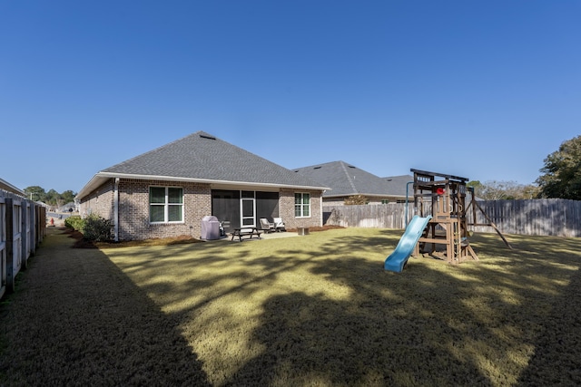
[[[111,178],[329,189],[204,131],[103,169],[79,191],[77,198],[83,198]]]

